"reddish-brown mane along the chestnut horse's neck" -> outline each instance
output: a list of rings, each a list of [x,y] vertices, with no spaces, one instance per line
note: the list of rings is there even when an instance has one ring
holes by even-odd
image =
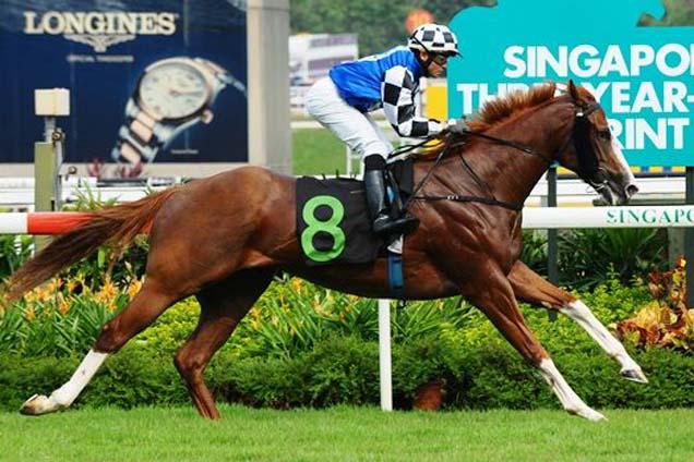
[[[557,84],[548,82],[541,85],[530,87],[530,89],[514,90],[502,98],[495,98],[487,101],[479,112],[474,114],[467,125],[472,132],[486,132],[502,121],[511,118],[524,109],[534,108],[545,101],[552,99],[557,92]],[[451,135],[446,135],[451,136]],[[445,138],[443,138],[445,139]],[[417,155],[419,159],[431,159],[438,156],[443,149],[445,143],[439,143],[435,146],[426,149]]]

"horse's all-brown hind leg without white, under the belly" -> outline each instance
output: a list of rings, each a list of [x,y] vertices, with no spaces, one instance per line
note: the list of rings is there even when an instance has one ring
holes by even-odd
[[[274,272],[267,268],[238,272],[198,294],[201,305],[200,321],[176,354],[175,364],[203,417],[220,417],[214,398],[205,385],[205,367],[265,291]]]

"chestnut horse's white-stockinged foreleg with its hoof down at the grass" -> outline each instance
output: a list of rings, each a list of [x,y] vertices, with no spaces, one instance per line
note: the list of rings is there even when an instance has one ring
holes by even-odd
[[[589,421],[601,421],[602,414],[589,408],[569,386],[554,366],[542,345],[528,329],[508,280],[499,270],[492,270],[489,279],[464,290],[463,294],[479,307],[496,326],[508,342],[536,366],[545,380],[559,398],[562,406],[571,414]]]

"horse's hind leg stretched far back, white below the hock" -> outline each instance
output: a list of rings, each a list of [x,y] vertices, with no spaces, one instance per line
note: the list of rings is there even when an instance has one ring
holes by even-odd
[[[69,408],[108,355],[118,351],[133,336],[149,326],[175,300],[147,280],[128,307],[101,328],[96,344],[89,350],[70,380],[49,397],[34,394],[26,400],[20,412],[39,415]]]

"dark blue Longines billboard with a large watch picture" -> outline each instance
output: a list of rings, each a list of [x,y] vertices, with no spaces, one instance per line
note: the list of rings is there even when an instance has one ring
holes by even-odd
[[[0,162],[33,162],[55,87],[65,163],[248,161],[246,27],[242,1],[0,0]]]

